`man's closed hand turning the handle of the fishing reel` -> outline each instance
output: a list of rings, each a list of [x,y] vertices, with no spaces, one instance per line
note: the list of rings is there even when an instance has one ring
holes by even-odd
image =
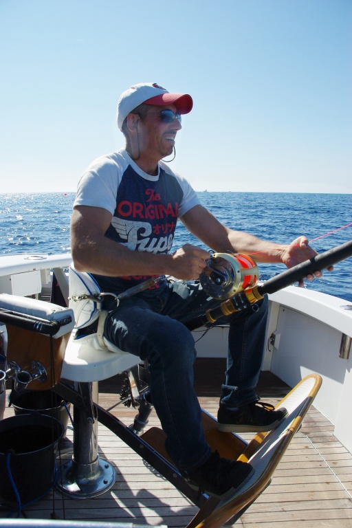
[[[183,245],[171,256],[172,267],[170,275],[183,281],[192,281],[199,278],[203,268],[206,266],[206,260],[209,259],[209,253],[206,250],[201,250],[201,248],[191,244]]]

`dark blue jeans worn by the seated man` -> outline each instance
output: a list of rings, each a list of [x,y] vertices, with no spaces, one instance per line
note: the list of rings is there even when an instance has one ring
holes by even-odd
[[[144,292],[121,301],[105,322],[104,335],[121,350],[148,360],[155,411],[167,435],[166,450],[182,470],[210,456],[201,428],[201,408],[193,388],[195,342],[184,322],[218,306],[198,283],[171,283],[153,298]],[[217,321],[230,323],[228,360],[221,403],[241,406],[258,397],[267,300]]]

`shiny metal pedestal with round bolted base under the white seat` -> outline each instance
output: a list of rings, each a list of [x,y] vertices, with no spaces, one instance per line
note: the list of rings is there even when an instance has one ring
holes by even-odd
[[[61,467],[57,487],[72,498],[90,498],[107,492],[115,483],[116,474],[111,463],[98,455],[98,420],[93,414],[98,382],[79,385],[80,393],[89,397],[90,405],[88,412],[87,408],[74,406],[74,454]]]

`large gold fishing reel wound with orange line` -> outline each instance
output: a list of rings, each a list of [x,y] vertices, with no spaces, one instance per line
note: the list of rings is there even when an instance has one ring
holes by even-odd
[[[248,256],[213,253],[199,276],[201,286],[214,299],[226,300],[252,289],[258,283],[259,270]]]

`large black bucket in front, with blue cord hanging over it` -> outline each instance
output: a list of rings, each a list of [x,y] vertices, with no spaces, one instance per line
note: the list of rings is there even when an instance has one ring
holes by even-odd
[[[51,416],[18,415],[0,421],[0,498],[21,506],[41,498],[56,481],[63,424]]]

